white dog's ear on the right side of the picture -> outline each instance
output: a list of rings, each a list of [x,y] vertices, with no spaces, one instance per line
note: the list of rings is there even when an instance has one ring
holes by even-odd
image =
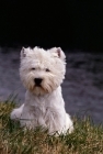
[[[60,47],[53,47],[53,48],[49,50],[49,52],[52,53],[52,55],[54,57],[58,57],[58,58],[60,58],[62,61],[66,59],[66,55],[65,55],[65,53],[62,52],[62,50]]]

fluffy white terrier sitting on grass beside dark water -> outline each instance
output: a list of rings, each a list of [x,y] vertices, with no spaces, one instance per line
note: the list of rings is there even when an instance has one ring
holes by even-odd
[[[65,58],[60,47],[22,48],[20,76],[27,91],[25,103],[11,112],[11,119],[20,120],[28,129],[41,125],[49,134],[73,131],[60,87],[66,73]]]

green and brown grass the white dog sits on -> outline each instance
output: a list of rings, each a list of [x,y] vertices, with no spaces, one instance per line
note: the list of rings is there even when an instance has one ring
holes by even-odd
[[[13,102],[0,102],[0,154],[103,154],[103,125],[73,118],[75,132],[50,136],[41,128],[24,130],[9,116]]]

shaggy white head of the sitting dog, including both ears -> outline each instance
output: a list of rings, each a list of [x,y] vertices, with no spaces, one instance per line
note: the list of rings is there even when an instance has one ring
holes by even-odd
[[[60,86],[65,78],[66,62],[60,47],[43,50],[22,48],[20,76],[26,89],[35,95],[45,95]]]

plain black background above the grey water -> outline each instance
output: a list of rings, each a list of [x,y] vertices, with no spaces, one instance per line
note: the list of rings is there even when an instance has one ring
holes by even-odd
[[[61,46],[102,52],[100,0],[0,1],[0,46]]]

